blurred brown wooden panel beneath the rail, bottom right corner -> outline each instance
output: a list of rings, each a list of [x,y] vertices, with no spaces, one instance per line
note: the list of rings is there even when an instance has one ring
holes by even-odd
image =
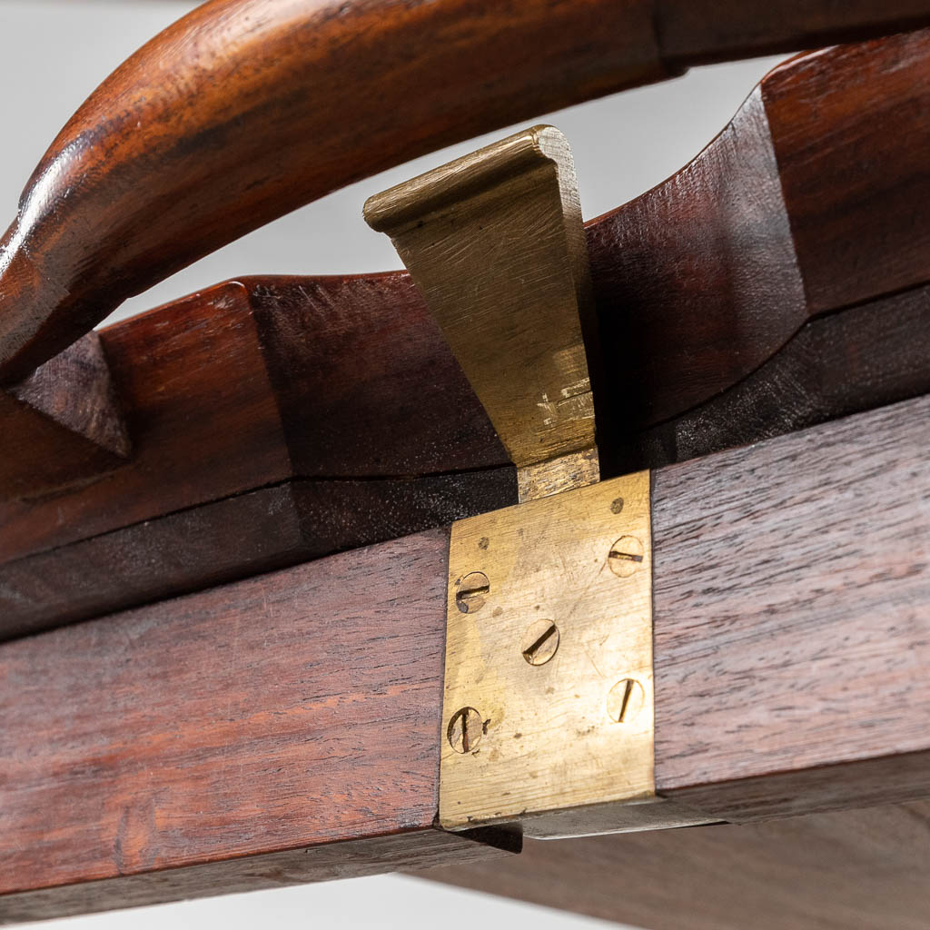
[[[646,930],[923,930],[930,805],[556,843],[419,874]]]

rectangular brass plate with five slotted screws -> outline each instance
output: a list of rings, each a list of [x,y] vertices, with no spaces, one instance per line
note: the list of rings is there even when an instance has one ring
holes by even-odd
[[[453,525],[444,717],[446,829],[648,820],[634,809],[656,801],[648,472]]]

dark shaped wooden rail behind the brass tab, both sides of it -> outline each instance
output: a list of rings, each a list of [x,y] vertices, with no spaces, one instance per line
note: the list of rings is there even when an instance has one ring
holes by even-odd
[[[928,73],[928,33],[793,60],[691,165],[591,221],[604,474],[930,392],[922,253],[898,248],[889,263],[883,251],[903,243],[896,218],[922,241],[930,205],[912,151],[930,144]],[[793,171],[794,191],[807,137],[791,129],[792,107],[822,140],[793,213],[778,170]],[[889,147],[886,126],[909,144]],[[851,171],[857,160],[882,170]],[[839,218],[830,254],[792,233],[809,226],[818,190]],[[857,259],[853,274],[843,242],[857,242],[865,217],[885,232],[863,235],[876,264],[863,272]],[[827,272],[844,283],[830,312],[808,297]],[[69,490],[0,502],[0,635],[515,499],[507,455],[405,273],[243,279],[100,339],[131,458]],[[26,441],[11,420],[0,427],[11,446]]]

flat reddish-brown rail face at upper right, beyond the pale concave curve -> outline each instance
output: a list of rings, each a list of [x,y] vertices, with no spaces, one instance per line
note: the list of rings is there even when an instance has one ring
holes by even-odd
[[[912,33],[843,46],[790,61],[764,80],[809,312],[930,277],[926,42]]]

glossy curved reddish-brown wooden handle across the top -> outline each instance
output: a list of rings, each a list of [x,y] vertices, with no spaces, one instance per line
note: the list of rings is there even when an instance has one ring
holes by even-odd
[[[690,61],[930,21],[927,0],[835,7],[212,0],[113,73],[33,174],[0,242],[0,382],[193,260],[419,154]]]

